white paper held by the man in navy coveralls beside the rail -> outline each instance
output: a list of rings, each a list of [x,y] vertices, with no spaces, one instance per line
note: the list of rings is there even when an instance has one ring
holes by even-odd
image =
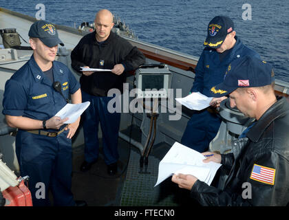
[[[193,110],[200,111],[210,106],[213,97],[207,97],[200,92],[193,92],[184,98],[175,98],[180,104]]]

